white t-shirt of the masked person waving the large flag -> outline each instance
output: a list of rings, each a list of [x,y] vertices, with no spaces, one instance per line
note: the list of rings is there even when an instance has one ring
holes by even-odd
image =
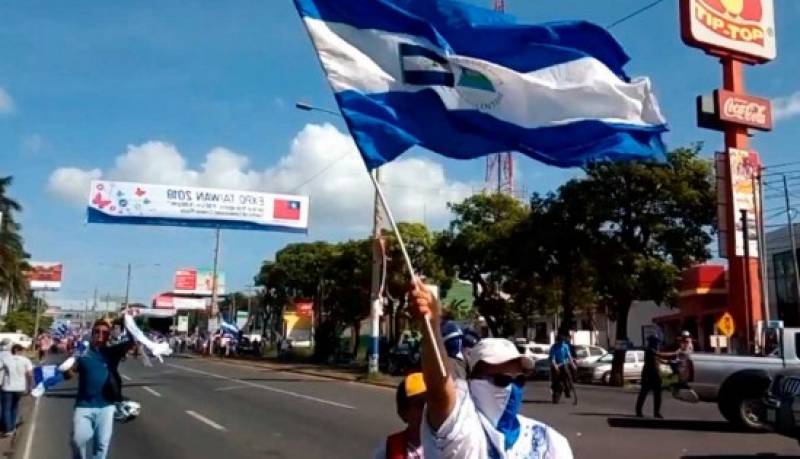
[[[569,442],[555,429],[517,415],[520,435],[514,446],[504,450],[504,437],[475,407],[466,381],[456,380],[456,405],[433,432],[422,423],[422,444],[427,459],[488,459],[490,445],[500,459],[572,459]],[[427,419],[427,413],[425,415]]]

